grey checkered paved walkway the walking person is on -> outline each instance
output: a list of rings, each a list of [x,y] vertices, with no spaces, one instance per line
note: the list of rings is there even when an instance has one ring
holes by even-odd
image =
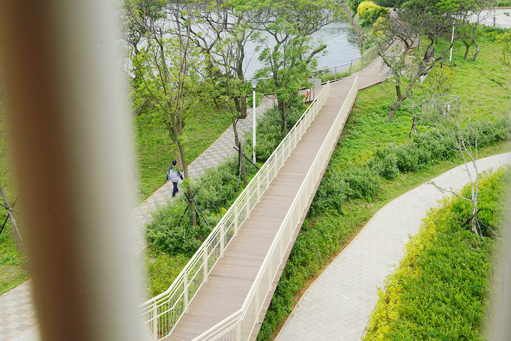
[[[274,100],[264,98],[263,103],[255,108],[256,118],[260,118],[264,110],[271,107]],[[247,109],[248,115],[237,124],[240,138],[252,128],[252,109]],[[215,141],[209,148],[200,154],[189,166],[191,178],[197,178],[204,174],[207,167],[218,165],[226,156],[236,153],[233,146],[234,132],[232,125]],[[165,173],[167,170],[161,170]],[[136,235],[138,236],[139,249],[145,244],[144,226],[151,218],[151,212],[158,205],[172,198],[172,183],[161,186],[146,201],[134,209],[136,223]],[[0,341],[37,341],[38,325],[32,299],[31,281],[27,281],[13,290],[0,296]]]

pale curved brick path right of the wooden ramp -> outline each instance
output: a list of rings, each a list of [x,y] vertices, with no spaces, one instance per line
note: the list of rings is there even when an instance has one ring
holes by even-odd
[[[503,164],[511,164],[511,152],[477,161],[479,172]],[[469,178],[463,165],[433,181],[459,190]],[[307,289],[276,340],[360,340],[378,301],[377,287],[403,258],[408,236],[446,195],[425,183],[380,209]]]

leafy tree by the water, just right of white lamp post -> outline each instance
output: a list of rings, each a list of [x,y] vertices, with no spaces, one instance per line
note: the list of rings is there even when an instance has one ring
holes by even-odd
[[[307,85],[316,57],[327,48],[321,40],[314,42],[317,32],[344,11],[330,0],[265,0],[260,2],[263,15],[257,23],[263,50],[259,59],[264,63],[258,77],[270,77],[268,91],[275,93],[281,111],[282,129],[287,132],[287,109],[298,90]]]

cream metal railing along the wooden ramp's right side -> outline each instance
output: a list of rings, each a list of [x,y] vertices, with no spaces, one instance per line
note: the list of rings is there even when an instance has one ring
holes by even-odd
[[[197,336],[195,340],[248,340],[253,328],[259,323],[259,315],[263,309],[264,302],[274,277],[281,266],[284,254],[291,243],[292,236],[300,221],[301,215],[307,205],[314,185],[316,184],[325,163],[330,157],[332,147],[337,142],[337,136],[351,109],[351,103],[358,94],[358,76],[355,78],[350,93],[346,96],[334,124],[330,128],[326,139],[323,141],[309,172],[291,204],[289,211],[278,230],[273,243],[270,246],[263,265],[248,292],[243,306],[240,310],[227,317],[216,326]]]

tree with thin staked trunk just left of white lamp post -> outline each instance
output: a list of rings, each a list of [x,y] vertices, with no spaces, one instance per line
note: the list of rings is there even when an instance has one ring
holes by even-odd
[[[203,78],[214,89],[214,101],[220,108],[227,107],[235,145],[238,147],[243,180],[247,184],[242,143],[238,134],[238,120],[247,116],[246,97],[250,88],[245,82],[245,45],[254,32],[253,22],[260,15],[257,6],[232,0],[195,1],[188,6],[194,10],[182,12],[178,18],[182,24],[192,22],[191,41],[205,58]]]

